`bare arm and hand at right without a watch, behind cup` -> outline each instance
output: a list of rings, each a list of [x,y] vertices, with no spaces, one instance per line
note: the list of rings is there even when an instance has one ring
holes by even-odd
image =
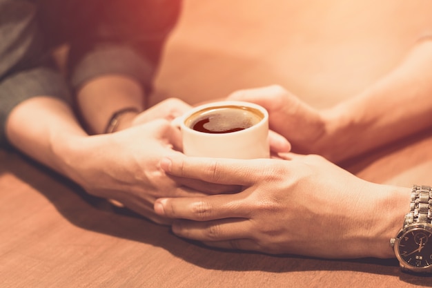
[[[242,90],[231,99],[266,107],[271,128],[297,153],[342,162],[432,125],[432,41],[422,39],[399,66],[359,95],[317,111],[279,86]]]

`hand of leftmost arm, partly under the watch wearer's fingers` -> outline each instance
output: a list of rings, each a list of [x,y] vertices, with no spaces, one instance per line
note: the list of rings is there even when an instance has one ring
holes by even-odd
[[[224,192],[212,186],[197,186],[203,192],[182,188],[181,180],[175,181],[161,171],[162,155],[179,153],[175,148],[180,141],[178,129],[163,119],[117,133],[84,137],[71,143],[75,152],[69,174],[88,193],[117,200],[154,222],[169,224],[170,220],[153,211],[156,198]],[[238,187],[225,191],[229,189]]]

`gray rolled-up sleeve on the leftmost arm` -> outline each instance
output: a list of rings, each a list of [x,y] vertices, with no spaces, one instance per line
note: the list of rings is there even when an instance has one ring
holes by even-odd
[[[6,119],[21,102],[38,95],[69,101],[69,90],[50,61],[50,48],[28,1],[0,4],[0,146],[7,144]]]

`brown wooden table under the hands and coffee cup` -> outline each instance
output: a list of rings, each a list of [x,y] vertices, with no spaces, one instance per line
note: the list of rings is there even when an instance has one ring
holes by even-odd
[[[197,103],[282,84],[331,106],[385,75],[432,26],[430,1],[376,2],[188,0],[150,100]],[[424,131],[344,166],[373,182],[431,184],[431,147]],[[393,259],[277,257],[181,240],[14,151],[0,150],[0,203],[2,288],[432,287]]]

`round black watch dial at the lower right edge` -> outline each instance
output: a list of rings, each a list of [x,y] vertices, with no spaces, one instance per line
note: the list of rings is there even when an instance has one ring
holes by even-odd
[[[432,233],[424,229],[412,229],[400,237],[397,245],[400,258],[412,267],[432,265]]]

